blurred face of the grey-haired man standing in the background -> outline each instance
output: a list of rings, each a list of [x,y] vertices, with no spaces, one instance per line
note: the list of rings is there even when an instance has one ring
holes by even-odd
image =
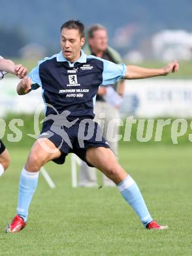
[[[108,43],[106,30],[96,30],[93,38],[89,38],[89,45],[93,51],[105,51]]]

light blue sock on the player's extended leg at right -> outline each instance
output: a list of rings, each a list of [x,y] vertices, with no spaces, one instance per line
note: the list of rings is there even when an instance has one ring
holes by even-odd
[[[146,203],[144,202],[136,182],[131,178],[131,176],[128,175],[127,178],[117,184],[117,186],[123,198],[125,198],[129,205],[131,205],[131,207],[136,211],[136,214],[140,218],[142,224],[146,226],[150,223],[153,219],[146,207]]]

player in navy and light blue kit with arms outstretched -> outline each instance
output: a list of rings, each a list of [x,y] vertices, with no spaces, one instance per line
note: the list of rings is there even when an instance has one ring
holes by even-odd
[[[78,20],[65,22],[61,26],[61,52],[40,61],[29,77],[24,77],[18,84],[19,95],[42,87],[42,96],[47,103],[46,120],[22,170],[17,215],[8,224],[6,232],[18,232],[26,226],[40,168],[48,161],[64,163],[71,152],[116,183],[145,228],[167,228],[153,221],[136,182],[121,167],[101,137],[99,126],[92,120],[93,98],[100,85],[116,83],[122,78],[167,75],[178,70],[178,62],[174,61],[161,69],[114,64],[96,56],[87,56],[81,50],[84,42],[84,24]]]

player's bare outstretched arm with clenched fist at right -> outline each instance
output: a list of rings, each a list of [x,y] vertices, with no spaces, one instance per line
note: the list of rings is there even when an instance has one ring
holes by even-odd
[[[156,77],[161,75],[168,75],[170,73],[178,72],[179,64],[177,60],[168,64],[165,68],[141,68],[138,66],[127,66],[125,72],[125,79],[142,79],[148,77]]]

